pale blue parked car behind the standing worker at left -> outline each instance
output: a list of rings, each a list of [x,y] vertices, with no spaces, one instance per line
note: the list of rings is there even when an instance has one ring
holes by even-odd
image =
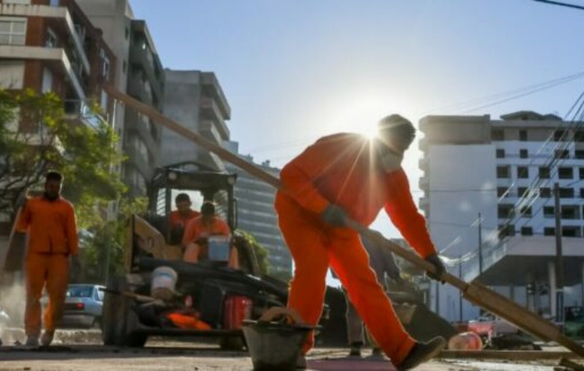
[[[101,328],[104,288],[91,284],[69,285],[60,327]],[[44,307],[47,303],[48,297],[45,295],[41,299],[41,304]]]

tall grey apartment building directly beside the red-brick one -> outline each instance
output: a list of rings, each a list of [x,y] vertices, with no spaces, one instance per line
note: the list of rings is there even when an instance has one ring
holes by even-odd
[[[77,0],[119,63],[114,86],[162,112],[164,71],[144,20],[135,19],[128,0]],[[161,129],[147,116],[123,105],[116,107],[116,130],[127,155],[121,172],[130,196],[145,195],[154,169],[160,165]]]

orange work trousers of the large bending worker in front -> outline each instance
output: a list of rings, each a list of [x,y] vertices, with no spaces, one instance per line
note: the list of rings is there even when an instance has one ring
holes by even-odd
[[[317,215],[281,193],[276,199],[276,211],[295,265],[288,307],[296,310],[307,324],[316,325],[324,304],[326,272],[331,266],[377,344],[394,365],[401,364],[414,340],[402,327],[377,282],[359,234],[326,225]],[[313,345],[314,334],[311,334],[303,353]]]

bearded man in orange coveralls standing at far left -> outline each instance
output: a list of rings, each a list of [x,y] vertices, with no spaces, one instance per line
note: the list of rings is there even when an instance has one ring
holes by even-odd
[[[47,173],[44,194],[26,202],[16,230],[28,233],[26,266],[26,345],[38,346],[41,328],[40,297],[47,288],[41,344],[50,345],[67,293],[69,255],[74,274],[81,271],[75,210],[61,197],[62,175]]]

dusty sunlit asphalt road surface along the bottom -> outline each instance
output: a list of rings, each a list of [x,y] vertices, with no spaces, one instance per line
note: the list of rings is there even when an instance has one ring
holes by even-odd
[[[394,368],[387,360],[347,358],[346,349],[315,349],[308,358],[309,370],[374,371]],[[214,344],[150,342],[143,349],[100,345],[54,345],[30,349],[24,346],[0,347],[0,370],[252,370],[246,352],[221,351]],[[419,371],[457,370],[554,370],[551,362],[502,362],[481,360],[433,360]]]

